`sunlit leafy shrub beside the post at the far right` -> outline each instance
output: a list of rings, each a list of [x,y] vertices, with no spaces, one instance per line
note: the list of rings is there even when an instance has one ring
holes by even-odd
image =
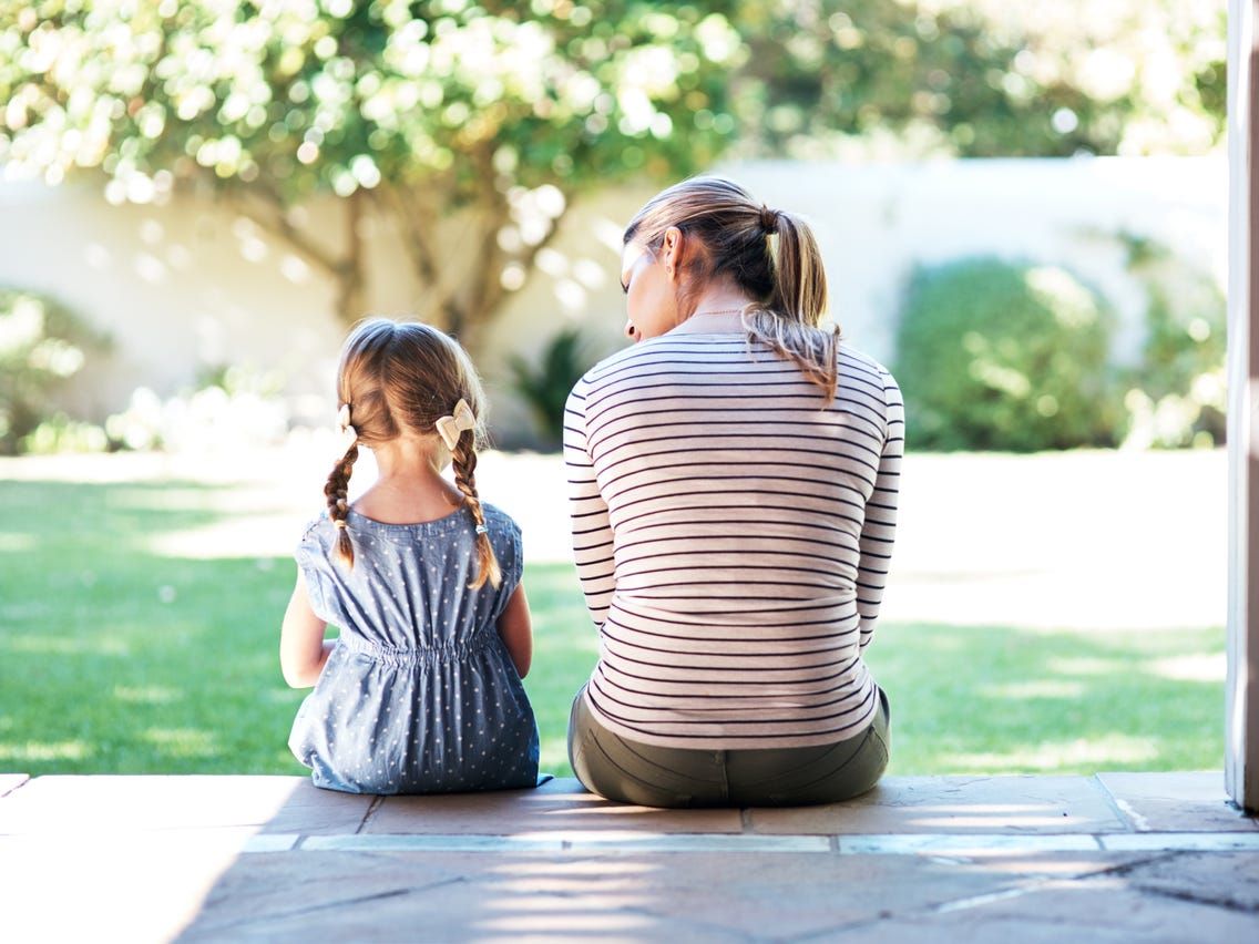
[[[1128,269],[1144,286],[1146,342],[1127,378],[1127,442],[1178,448],[1225,441],[1228,312],[1207,272],[1166,245],[1124,235]]]

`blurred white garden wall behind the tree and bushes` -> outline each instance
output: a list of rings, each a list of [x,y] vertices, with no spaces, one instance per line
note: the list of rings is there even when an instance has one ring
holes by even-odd
[[[1225,282],[1222,160],[757,162],[719,170],[771,206],[811,220],[832,313],[852,344],[889,362],[899,295],[917,263],[996,253],[1063,264],[1119,308],[1127,326],[1121,345],[1129,351],[1139,341],[1142,297],[1115,233],[1168,242]],[[621,344],[621,229],[652,193],[621,186],[570,208],[541,271],[476,339],[500,443],[530,439],[506,379],[509,355],[534,356],[568,323],[583,326],[592,351]],[[335,233],[335,211],[317,208],[312,227]],[[389,278],[403,266],[390,234],[379,229],[369,239],[379,279],[371,310],[414,310],[404,282]],[[213,198],[111,206],[82,183],[55,190],[0,183],[0,284],[53,295],[113,336],[113,355],[68,391],[84,418],[121,410],[136,386],[170,395],[190,389],[205,368],[234,362],[281,381],[295,422],[331,422],[345,330],[332,313],[331,286]]]

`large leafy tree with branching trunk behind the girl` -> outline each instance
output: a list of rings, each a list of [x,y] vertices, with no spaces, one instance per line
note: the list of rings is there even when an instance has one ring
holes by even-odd
[[[720,14],[617,0],[3,0],[0,24],[0,161],[103,171],[117,203],[208,181],[331,274],[347,321],[376,214],[418,313],[454,334],[524,282],[575,191],[710,164],[740,53]],[[319,194],[344,204],[331,243],[295,213]]]

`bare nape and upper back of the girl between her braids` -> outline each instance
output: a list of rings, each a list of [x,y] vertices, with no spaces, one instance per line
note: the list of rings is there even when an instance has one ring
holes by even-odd
[[[387,525],[418,525],[449,515],[463,495],[442,475],[449,453],[436,437],[399,438],[375,447],[379,476],[353,509]]]

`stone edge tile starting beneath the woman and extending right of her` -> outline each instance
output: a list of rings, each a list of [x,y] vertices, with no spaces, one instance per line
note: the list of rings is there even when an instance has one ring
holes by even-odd
[[[1100,833],[1127,829],[1087,777],[886,777],[864,797],[752,809],[763,833]]]

